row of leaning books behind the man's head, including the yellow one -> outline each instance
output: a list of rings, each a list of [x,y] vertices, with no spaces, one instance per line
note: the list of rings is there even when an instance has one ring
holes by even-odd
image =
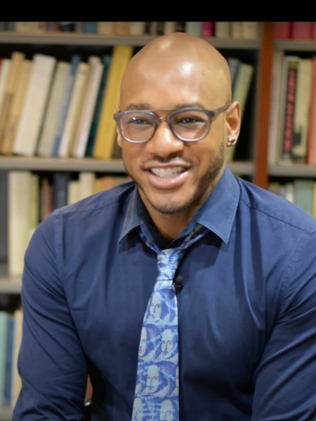
[[[79,55],[70,63],[40,54],[29,60],[17,51],[0,59],[0,153],[121,158],[113,116],[132,52],[132,47],[116,46],[112,55],[90,56],[88,63]],[[233,100],[243,113],[254,67],[237,57],[227,62]]]

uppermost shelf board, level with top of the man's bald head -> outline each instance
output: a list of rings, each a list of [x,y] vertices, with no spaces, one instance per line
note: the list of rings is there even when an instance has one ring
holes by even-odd
[[[143,47],[158,38],[158,35],[142,35],[140,37],[103,36],[87,33],[45,33],[22,34],[15,32],[0,32],[0,44],[59,44],[81,46],[138,46]],[[259,39],[216,39],[206,38],[217,48],[260,49]]]

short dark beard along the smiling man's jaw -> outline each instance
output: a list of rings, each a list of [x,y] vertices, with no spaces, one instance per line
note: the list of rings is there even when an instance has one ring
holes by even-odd
[[[123,155],[124,159],[124,155]],[[166,159],[164,159],[166,160]],[[214,189],[214,185],[212,185],[213,181],[217,178],[218,174],[220,173],[221,169],[225,164],[225,146],[224,144],[221,145],[219,149],[218,156],[214,159],[211,159],[209,162],[209,168],[205,172],[205,174],[201,177],[199,184],[197,185],[197,189],[192,196],[187,199],[186,202],[182,204],[175,204],[175,203],[167,203],[164,205],[158,205],[155,202],[151,202],[149,200],[148,195],[146,194],[145,190],[141,187],[141,184],[137,183],[137,181],[133,178],[132,174],[128,171],[128,168],[125,165],[124,160],[124,168],[127,174],[132,178],[132,181],[138,186],[141,190],[143,195],[145,196],[146,200],[152,206],[153,209],[162,213],[164,215],[175,215],[177,213],[182,213],[187,211],[192,205],[198,204],[196,207],[196,211],[201,207],[201,205],[207,200],[209,194]]]

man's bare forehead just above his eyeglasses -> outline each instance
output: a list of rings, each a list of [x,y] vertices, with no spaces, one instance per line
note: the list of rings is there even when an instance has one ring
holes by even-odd
[[[135,66],[121,87],[121,108],[149,104],[151,109],[174,108],[176,104],[201,103],[212,108],[221,103],[220,73],[189,60]]]

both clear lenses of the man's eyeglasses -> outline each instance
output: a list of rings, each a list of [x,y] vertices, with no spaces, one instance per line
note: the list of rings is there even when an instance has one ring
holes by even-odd
[[[176,136],[186,141],[194,141],[208,132],[209,116],[203,111],[179,111],[171,116],[170,124]],[[128,140],[145,142],[156,130],[156,119],[139,111],[128,113],[121,117],[121,130]]]

